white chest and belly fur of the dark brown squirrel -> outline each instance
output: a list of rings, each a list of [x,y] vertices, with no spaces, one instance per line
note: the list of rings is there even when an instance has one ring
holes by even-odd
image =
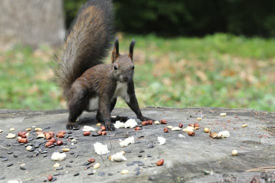
[[[121,97],[126,103],[130,102],[130,97],[127,93],[127,83],[121,83],[117,81],[116,88],[113,94],[113,98]],[[96,111],[98,109],[98,96],[89,99],[89,111]]]

